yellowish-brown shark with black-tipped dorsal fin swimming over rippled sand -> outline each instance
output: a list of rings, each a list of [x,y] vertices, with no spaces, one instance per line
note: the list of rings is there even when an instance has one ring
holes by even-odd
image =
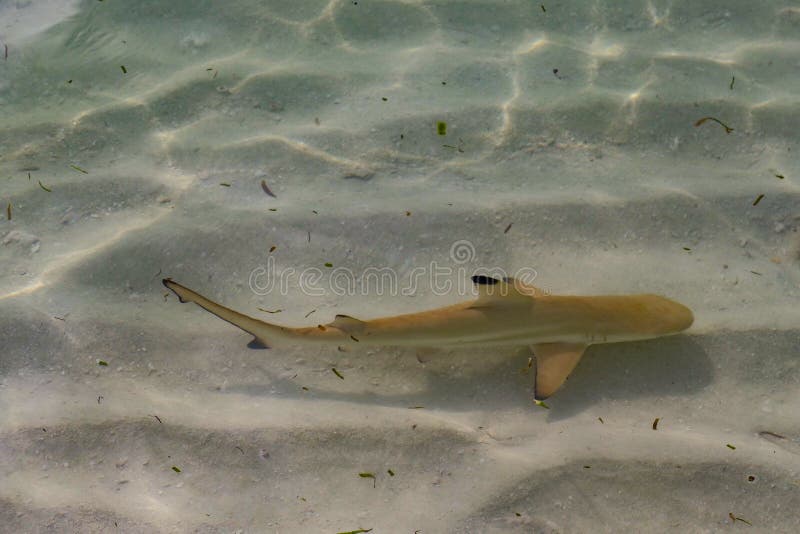
[[[180,302],[193,302],[253,335],[251,346],[530,347],[536,401],[564,384],[590,345],[678,334],[694,322],[689,308],[659,295],[553,295],[510,277],[476,275],[472,282],[477,298],[451,306],[368,320],[337,315],[327,324],[290,327],[226,308],[170,278],[162,280]]]

